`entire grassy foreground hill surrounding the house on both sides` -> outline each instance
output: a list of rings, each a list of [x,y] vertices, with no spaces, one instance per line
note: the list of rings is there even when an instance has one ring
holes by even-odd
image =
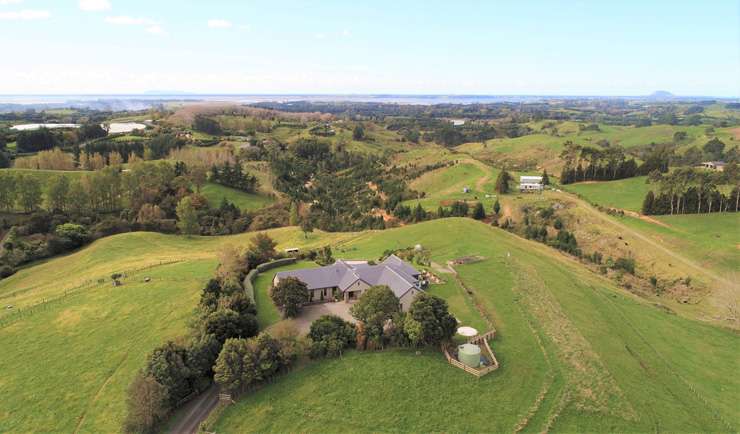
[[[472,296],[443,273],[447,283],[430,291],[450,300],[463,323],[481,328],[475,304],[492,318],[502,368],[475,380],[435,350],[351,352],[245,397],[217,432],[740,426],[737,334],[655,308],[543,245],[469,219],[308,239],[296,228],[270,235],[280,248],[329,243],[342,258],[415,244],[442,265],[481,256],[456,267]],[[15,397],[0,401],[0,431],[117,431],[123,392],[144,355],[182,332],[220,246],[251,236],[121,234],[1,281],[2,304],[27,313],[0,314],[0,392]],[[127,274],[123,286],[110,285],[114,271]],[[43,299],[50,302],[30,308]]]

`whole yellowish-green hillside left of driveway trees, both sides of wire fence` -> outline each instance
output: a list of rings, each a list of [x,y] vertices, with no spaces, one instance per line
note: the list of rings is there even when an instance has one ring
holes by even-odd
[[[281,248],[355,236],[270,235]],[[0,432],[71,432],[80,420],[82,432],[118,431],[133,374],[152,348],[184,333],[218,249],[252,236],[121,234],[0,281],[0,304],[15,306],[0,310],[0,393],[12,397],[0,400]],[[111,286],[113,272],[127,274],[122,287]]]

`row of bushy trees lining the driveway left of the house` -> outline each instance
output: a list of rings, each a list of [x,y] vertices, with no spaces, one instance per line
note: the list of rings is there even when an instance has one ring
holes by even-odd
[[[280,341],[265,334],[250,339],[259,331],[257,309],[242,284],[251,268],[274,257],[274,246],[259,234],[246,251],[227,247],[220,253],[216,276],[201,292],[188,338],[156,348],[129,387],[126,431],[151,432],[167,414],[205,390],[214,376],[230,389],[245,378],[262,381],[289,364],[293,356]],[[249,362],[253,371],[237,372]]]

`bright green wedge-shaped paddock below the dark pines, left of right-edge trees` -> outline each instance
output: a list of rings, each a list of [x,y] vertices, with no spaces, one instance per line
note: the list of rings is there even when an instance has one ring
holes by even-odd
[[[591,203],[640,212],[651,186],[647,183],[647,176],[637,176],[616,181],[579,182],[563,188],[580,194]]]

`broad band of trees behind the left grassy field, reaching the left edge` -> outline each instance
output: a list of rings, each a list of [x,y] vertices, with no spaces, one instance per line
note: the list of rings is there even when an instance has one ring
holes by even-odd
[[[55,233],[65,223],[80,225],[87,242],[131,230],[226,235],[287,221],[287,210],[279,203],[252,212],[225,199],[212,206],[193,193],[192,184],[191,173],[166,162],[138,162],[127,172],[106,167],[80,177],[48,179],[0,172],[0,210],[16,214],[16,230],[10,234],[14,241],[0,250],[0,266],[9,274],[27,262],[79,247]],[[10,229],[7,222],[0,227],[6,238]]]

